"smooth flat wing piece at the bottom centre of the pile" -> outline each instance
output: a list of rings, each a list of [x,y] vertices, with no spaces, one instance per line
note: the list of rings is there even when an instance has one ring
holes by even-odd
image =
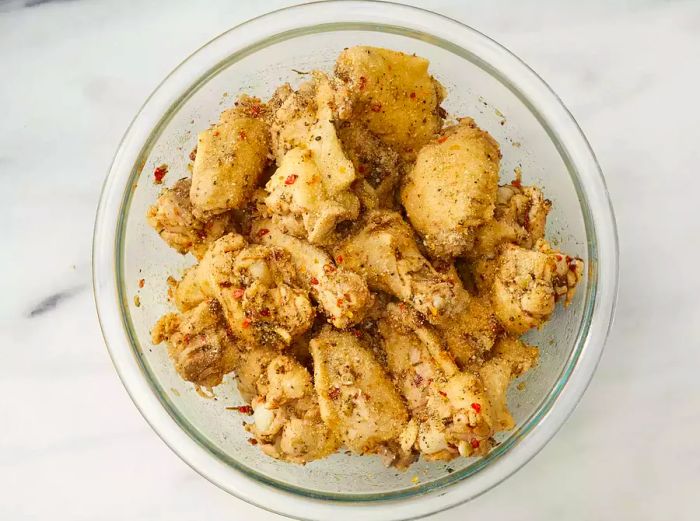
[[[321,417],[357,454],[397,445],[408,413],[372,353],[349,332],[325,328],[310,343]]]

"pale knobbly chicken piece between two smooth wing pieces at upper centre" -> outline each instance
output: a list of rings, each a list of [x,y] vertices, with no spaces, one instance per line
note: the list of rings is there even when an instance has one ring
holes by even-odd
[[[272,130],[279,168],[265,186],[265,203],[277,214],[301,220],[310,242],[323,243],[338,223],[356,219],[360,211],[350,190],[355,168],[333,124],[335,91],[318,73],[312,86],[287,92],[277,105]]]

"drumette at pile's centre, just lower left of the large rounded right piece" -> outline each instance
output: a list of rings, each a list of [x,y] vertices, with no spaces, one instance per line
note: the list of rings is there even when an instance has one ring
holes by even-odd
[[[370,212],[364,226],[340,245],[336,258],[385,291],[435,319],[454,298],[453,283],[421,254],[411,227],[397,212]]]

